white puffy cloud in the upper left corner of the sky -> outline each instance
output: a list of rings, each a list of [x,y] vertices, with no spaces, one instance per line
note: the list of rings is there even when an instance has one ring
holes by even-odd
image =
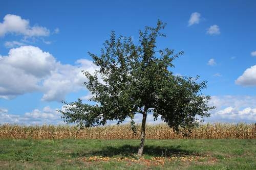
[[[8,33],[20,34],[28,37],[49,36],[50,31],[45,27],[29,25],[29,20],[18,15],[7,14],[0,22],[0,36]]]

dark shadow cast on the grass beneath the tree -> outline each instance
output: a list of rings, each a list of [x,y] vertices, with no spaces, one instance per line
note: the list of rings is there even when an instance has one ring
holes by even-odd
[[[134,157],[137,155],[138,147],[133,145],[124,144],[121,147],[110,147],[107,146],[104,149],[98,151],[90,151],[90,152],[80,152],[73,153],[73,156],[103,156],[103,157],[113,157],[113,156],[123,156],[123,157]],[[180,146],[166,146],[159,147],[153,145],[145,145],[143,154],[153,156],[153,157],[182,157],[184,155],[194,156],[199,155],[195,151],[188,151],[181,149]]]

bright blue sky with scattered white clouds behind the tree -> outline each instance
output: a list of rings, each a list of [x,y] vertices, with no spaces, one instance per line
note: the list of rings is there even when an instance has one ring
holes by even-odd
[[[99,54],[112,30],[136,42],[157,19],[167,23],[158,47],[185,52],[172,71],[208,81],[203,92],[217,109],[206,122],[254,123],[255,9],[255,1],[1,1],[0,124],[60,124],[61,100],[88,102],[80,70],[97,67],[87,52]]]

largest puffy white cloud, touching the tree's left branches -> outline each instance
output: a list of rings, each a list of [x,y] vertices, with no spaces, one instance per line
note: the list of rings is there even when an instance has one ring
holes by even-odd
[[[43,101],[61,101],[82,88],[86,77],[98,69],[92,61],[80,59],[76,65],[61,64],[48,52],[35,46],[12,48],[8,56],[0,58],[0,98],[40,91]]]

